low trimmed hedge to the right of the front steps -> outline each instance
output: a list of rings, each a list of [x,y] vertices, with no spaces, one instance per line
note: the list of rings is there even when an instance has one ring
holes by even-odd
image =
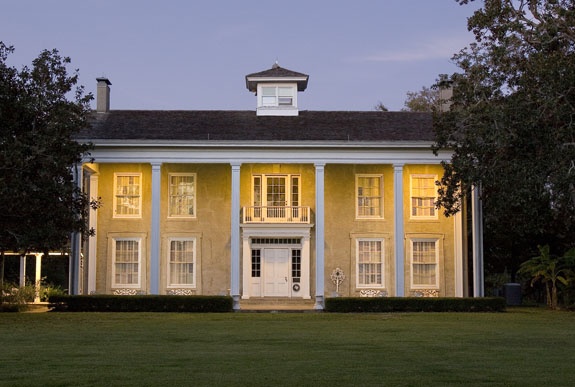
[[[434,297],[334,297],[325,300],[326,312],[504,312],[505,299]]]

